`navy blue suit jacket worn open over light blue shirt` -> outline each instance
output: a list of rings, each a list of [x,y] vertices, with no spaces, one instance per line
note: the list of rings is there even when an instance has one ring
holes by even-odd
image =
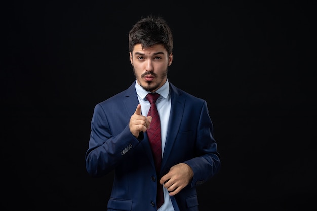
[[[170,83],[171,113],[161,173],[155,165],[147,134],[135,138],[129,129],[131,115],[139,103],[135,82],[127,89],[95,106],[86,168],[92,177],[115,170],[108,210],[156,210],[157,181],[178,163],[187,163],[194,176],[185,188],[171,196],[174,209],[198,210],[196,186],[219,170],[217,143],[205,100]]]

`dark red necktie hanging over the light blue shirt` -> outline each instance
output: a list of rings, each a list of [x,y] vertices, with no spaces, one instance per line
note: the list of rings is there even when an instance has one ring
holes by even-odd
[[[154,162],[156,167],[156,174],[157,176],[160,175],[161,169],[161,159],[162,159],[162,145],[161,145],[161,124],[160,124],[160,116],[159,112],[156,108],[156,100],[160,97],[159,93],[148,93],[146,95],[146,99],[150,102],[151,107],[148,111],[147,116],[152,117],[152,121],[150,124],[150,128],[146,131],[147,136],[151,145],[151,149],[154,156]],[[157,209],[164,203],[164,196],[163,196],[163,187],[159,182],[159,177],[157,178]]]

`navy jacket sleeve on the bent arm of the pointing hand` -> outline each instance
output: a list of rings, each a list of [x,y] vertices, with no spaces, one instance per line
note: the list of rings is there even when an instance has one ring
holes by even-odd
[[[130,132],[129,123],[122,125],[119,122],[123,121],[108,118],[104,108],[97,104],[91,121],[89,147],[86,152],[86,168],[92,177],[110,173],[129,150],[139,144],[139,140]],[[120,128],[121,132],[113,135],[109,121],[116,128]]]

